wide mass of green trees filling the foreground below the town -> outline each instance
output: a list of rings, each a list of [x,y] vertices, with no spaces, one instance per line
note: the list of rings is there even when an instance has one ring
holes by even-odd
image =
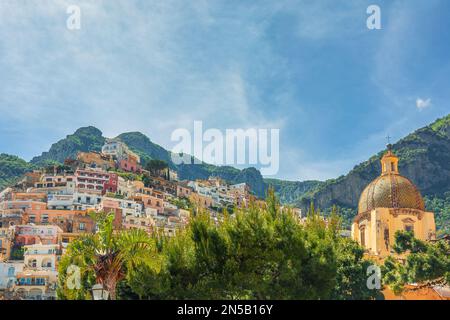
[[[126,241],[133,245],[122,246],[118,239],[125,236],[114,235],[110,228],[108,223],[100,225],[99,235],[69,245],[60,264],[61,297],[89,298],[99,270],[108,270],[100,277],[105,283],[110,279],[107,275],[121,275],[108,284],[111,290],[118,289],[120,299],[373,299],[379,295],[366,286],[366,270],[372,263],[363,259],[357,243],[339,236],[340,219],[335,213],[326,222],[312,207],[306,223],[299,223],[292,212],[280,210],[273,192],[265,208],[225,213],[218,225],[200,213],[174,237],[154,236],[150,241],[140,235],[139,241]],[[107,240],[111,238],[117,240]],[[145,243],[146,249],[124,253],[143,249],[136,243]],[[99,251],[111,258],[98,258]],[[127,258],[110,263],[116,252]],[[132,267],[125,263],[129,260]],[[82,269],[78,290],[65,286],[70,264]],[[119,272],[115,265],[124,267]]]

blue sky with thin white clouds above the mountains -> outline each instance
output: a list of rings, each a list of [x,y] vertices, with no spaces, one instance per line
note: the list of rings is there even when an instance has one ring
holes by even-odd
[[[80,8],[69,30],[67,8]],[[369,30],[366,10],[381,9]],[[336,178],[450,112],[450,1],[0,1],[0,153],[276,128],[288,180]]]

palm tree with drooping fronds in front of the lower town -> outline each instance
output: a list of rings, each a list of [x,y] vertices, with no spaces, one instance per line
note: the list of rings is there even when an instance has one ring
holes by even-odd
[[[82,277],[86,279],[90,275],[90,280],[102,284],[109,291],[110,298],[115,300],[118,282],[130,275],[136,267],[141,264],[152,267],[158,265],[155,241],[140,229],[115,231],[112,214],[100,213],[94,219],[98,232],[84,235],[69,245],[62,259],[61,278],[65,280],[64,273],[69,265],[76,265],[80,268]],[[90,286],[89,282],[85,282],[86,286]],[[82,290],[87,292],[90,288]]]

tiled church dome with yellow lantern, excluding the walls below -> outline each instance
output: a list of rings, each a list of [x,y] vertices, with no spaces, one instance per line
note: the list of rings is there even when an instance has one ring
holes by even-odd
[[[375,208],[425,210],[417,187],[398,173],[398,158],[389,150],[381,159],[381,176],[372,181],[359,198],[358,213]]]

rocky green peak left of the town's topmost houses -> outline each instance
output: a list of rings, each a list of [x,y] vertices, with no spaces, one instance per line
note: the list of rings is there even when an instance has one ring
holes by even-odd
[[[100,151],[104,143],[105,138],[99,129],[91,126],[79,128],[74,134],[52,144],[48,152],[34,157],[30,162],[39,166],[63,163],[66,158],[75,158],[79,151]]]

